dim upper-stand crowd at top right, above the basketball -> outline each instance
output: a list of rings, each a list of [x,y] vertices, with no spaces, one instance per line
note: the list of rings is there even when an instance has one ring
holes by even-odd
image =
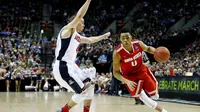
[[[186,23],[200,11],[198,0],[150,0],[143,2],[133,15],[135,35],[148,45],[158,45],[160,39],[167,39],[167,30],[182,17]],[[136,15],[136,16],[135,16]]]

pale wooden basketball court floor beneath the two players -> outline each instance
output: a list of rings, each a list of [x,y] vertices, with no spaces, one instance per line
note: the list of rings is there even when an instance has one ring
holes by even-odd
[[[1,92],[0,112],[56,112],[71,97],[67,92]],[[145,105],[134,105],[133,98],[95,95],[91,112],[156,112]],[[200,112],[200,106],[159,102],[168,112]],[[71,112],[83,112],[82,104]]]

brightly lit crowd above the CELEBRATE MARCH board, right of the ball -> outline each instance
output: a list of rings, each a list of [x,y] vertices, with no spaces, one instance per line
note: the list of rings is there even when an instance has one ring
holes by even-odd
[[[173,54],[167,63],[151,66],[155,76],[200,76],[199,39]]]

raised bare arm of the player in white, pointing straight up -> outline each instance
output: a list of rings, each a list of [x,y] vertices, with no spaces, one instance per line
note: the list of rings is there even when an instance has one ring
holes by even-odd
[[[76,28],[77,25],[80,23],[81,19],[85,16],[91,0],[87,0],[84,5],[79,9],[78,13],[76,14],[75,18],[64,27],[64,30],[61,33],[62,38],[68,38],[71,36],[73,28]]]

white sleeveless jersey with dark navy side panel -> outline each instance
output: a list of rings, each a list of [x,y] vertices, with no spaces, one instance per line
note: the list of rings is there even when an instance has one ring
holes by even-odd
[[[71,35],[71,37],[62,39],[61,38],[62,31],[63,28],[61,29],[57,38],[56,50],[55,50],[56,60],[61,60],[69,63],[75,62],[78,52],[78,47],[80,45],[81,35],[75,31]]]

